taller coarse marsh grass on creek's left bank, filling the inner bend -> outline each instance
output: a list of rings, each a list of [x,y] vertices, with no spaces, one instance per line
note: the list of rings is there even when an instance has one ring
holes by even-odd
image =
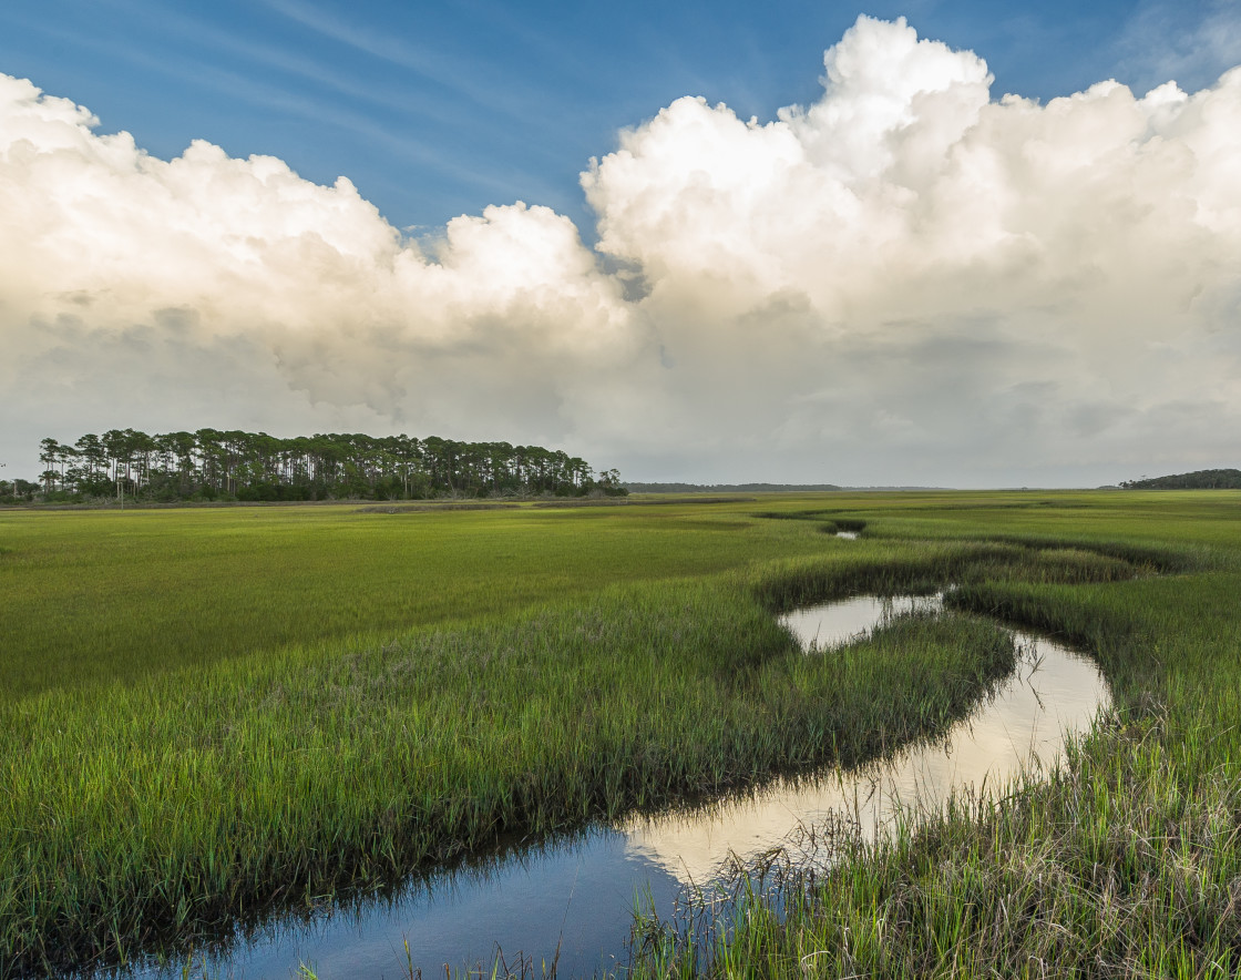
[[[805,657],[697,584],[29,698],[0,715],[4,948],[122,958],[504,833],[862,759],[947,724],[1011,658],[969,619]]]

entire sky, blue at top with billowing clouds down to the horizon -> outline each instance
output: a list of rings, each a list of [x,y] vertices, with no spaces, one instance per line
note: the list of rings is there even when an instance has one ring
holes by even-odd
[[[0,478],[127,426],[1237,466],[1239,65],[1237,0],[6,0]]]

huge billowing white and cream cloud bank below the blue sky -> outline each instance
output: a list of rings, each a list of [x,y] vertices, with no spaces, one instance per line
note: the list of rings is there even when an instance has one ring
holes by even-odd
[[[633,478],[1229,461],[1241,70],[994,101],[977,55],[861,17],[824,72],[771,122],[683,98],[623,132],[582,175],[593,252],[520,202],[414,242],[344,178],[159,160],[0,77],[0,448],[55,420],[542,441]]]

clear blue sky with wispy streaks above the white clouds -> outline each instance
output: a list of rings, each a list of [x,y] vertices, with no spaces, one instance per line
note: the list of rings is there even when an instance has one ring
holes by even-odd
[[[0,71],[86,104],[170,158],[191,139],[347,175],[398,227],[524,200],[589,235],[577,186],[679,96],[766,120],[819,93],[859,12],[972,48],[994,92],[1049,99],[1108,77],[1195,89],[1241,60],[1199,30],[1236,4],[905,0],[328,2],[5,0]],[[1230,56],[1236,56],[1230,58]],[[1169,75],[1167,68],[1174,71]]]

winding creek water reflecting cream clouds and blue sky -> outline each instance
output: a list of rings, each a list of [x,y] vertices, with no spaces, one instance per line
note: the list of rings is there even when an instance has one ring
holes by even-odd
[[[831,647],[885,617],[938,606],[936,596],[861,596],[800,610],[783,622],[810,656],[830,656]],[[730,852],[745,860],[786,842],[799,827],[841,819],[865,835],[881,833],[902,804],[933,810],[952,789],[985,789],[1033,758],[1051,761],[1066,732],[1088,729],[1108,701],[1107,688],[1083,657],[1045,638],[1015,636],[1023,650],[1018,671],[938,743],[860,771],[828,770],[689,814],[594,828],[486,867],[419,879],[395,898],[323,910],[308,922],[276,922],[237,937],[227,951],[196,954],[192,973],[290,976],[304,964],[321,980],[377,980],[405,975],[407,963],[426,975],[444,964],[490,973],[498,950],[510,964],[532,958],[536,969],[558,950],[561,975],[624,964],[635,896],[666,910],[686,884],[709,883]],[[124,976],[163,980],[181,976],[184,965]]]

